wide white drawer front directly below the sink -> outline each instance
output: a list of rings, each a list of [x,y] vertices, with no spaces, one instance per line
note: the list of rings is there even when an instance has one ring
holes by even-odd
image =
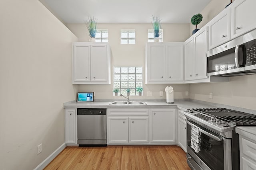
[[[148,109],[108,109],[109,116],[147,116]]]

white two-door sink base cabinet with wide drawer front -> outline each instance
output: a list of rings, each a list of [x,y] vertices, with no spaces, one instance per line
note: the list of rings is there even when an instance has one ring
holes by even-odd
[[[148,143],[148,126],[148,109],[109,109],[108,143]]]

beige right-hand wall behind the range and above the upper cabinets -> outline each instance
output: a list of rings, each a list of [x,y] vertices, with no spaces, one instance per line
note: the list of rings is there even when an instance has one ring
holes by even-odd
[[[230,0],[212,0],[201,12],[204,19],[199,27],[214,18],[229,2]],[[253,90],[255,84],[256,74],[230,77],[230,82],[191,84],[190,98],[256,110],[256,92]],[[212,99],[209,99],[210,92],[213,93]]]

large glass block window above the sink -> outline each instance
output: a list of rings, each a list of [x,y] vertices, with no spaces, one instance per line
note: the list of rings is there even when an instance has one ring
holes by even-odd
[[[143,88],[142,67],[122,66],[114,67],[114,89],[118,88],[120,94],[126,96],[129,88],[130,96],[138,96],[136,87]]]

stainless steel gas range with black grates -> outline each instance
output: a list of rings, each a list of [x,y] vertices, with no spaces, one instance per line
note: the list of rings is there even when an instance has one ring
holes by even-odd
[[[192,170],[240,170],[236,126],[256,126],[256,115],[226,108],[188,109],[187,162]],[[191,147],[192,126],[199,127],[200,151]]]

